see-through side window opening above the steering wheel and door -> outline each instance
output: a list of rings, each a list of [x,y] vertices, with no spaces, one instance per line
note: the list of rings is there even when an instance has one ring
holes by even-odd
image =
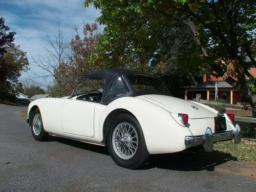
[[[81,94],[87,94],[92,90],[103,92],[103,79],[82,79],[73,91],[70,98]]]

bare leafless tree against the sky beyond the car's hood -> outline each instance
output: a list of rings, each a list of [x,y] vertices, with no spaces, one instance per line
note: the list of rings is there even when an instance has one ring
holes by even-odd
[[[55,34],[55,39],[51,38],[47,34],[48,46],[44,47],[46,53],[45,57],[38,55],[35,59],[33,56],[34,66],[42,69],[44,72],[42,74],[35,73],[28,74],[29,78],[36,82],[41,87],[52,87],[56,88],[58,92],[58,97],[62,94],[62,89],[66,86],[69,79],[65,76],[65,71],[61,70],[66,68],[69,63],[69,42],[65,39],[63,32],[58,28],[57,35]],[[54,83],[50,83],[53,79]]]

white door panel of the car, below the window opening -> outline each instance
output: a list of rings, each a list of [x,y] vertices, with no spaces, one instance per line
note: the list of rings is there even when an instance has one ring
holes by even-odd
[[[94,110],[100,103],[67,99],[62,108],[62,129],[64,133],[93,137]]]

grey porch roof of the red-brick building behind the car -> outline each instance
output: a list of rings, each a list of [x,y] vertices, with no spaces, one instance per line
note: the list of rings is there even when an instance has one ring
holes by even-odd
[[[226,81],[206,81],[206,82],[198,83],[197,85],[184,86],[183,88],[185,88],[185,89],[215,89],[215,82],[217,82],[217,88],[234,89]],[[236,89],[234,89],[234,90],[236,90]]]

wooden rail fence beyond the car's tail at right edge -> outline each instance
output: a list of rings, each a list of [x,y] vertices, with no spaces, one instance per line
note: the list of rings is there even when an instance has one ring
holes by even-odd
[[[256,118],[252,118],[252,112],[256,108],[245,105],[228,104],[215,101],[199,100],[200,103],[225,108],[225,113],[234,114],[234,122],[241,127],[241,136],[243,139],[256,139]]]

